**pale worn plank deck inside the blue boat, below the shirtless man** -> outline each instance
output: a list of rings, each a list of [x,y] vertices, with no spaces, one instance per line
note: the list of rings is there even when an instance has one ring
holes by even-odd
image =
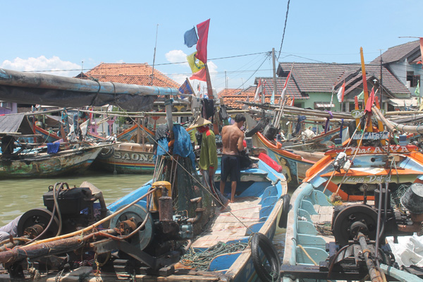
[[[228,242],[244,238],[247,231],[245,226],[259,221],[261,207],[259,202],[258,197],[236,197],[235,202],[228,205],[230,212],[219,212],[220,208],[216,208],[216,218],[209,229],[192,243],[192,247],[208,248],[219,241]]]

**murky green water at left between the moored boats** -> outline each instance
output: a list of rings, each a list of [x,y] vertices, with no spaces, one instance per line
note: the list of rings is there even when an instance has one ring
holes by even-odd
[[[111,204],[152,178],[151,174],[113,175],[113,173],[87,173],[58,178],[0,180],[0,226],[30,209],[44,207],[42,195],[49,185],[66,182],[69,187],[79,187],[84,181],[102,190],[106,204]]]

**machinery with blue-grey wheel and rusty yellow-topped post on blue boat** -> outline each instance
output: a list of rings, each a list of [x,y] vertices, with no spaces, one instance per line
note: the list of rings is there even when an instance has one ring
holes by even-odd
[[[185,253],[185,243],[194,235],[195,224],[204,209],[202,198],[191,200],[197,204],[196,216],[174,214],[171,183],[158,181],[152,184],[157,188],[152,198],[147,200],[147,209],[140,204],[121,206],[110,221],[110,228],[118,231],[121,238],[92,243],[97,255],[120,250],[119,259],[114,261],[115,271],[135,271],[137,274],[169,275],[173,273],[172,264],[179,261]],[[121,209],[125,209],[123,212]],[[148,211],[148,212],[147,212]],[[136,260],[134,260],[135,258]]]

